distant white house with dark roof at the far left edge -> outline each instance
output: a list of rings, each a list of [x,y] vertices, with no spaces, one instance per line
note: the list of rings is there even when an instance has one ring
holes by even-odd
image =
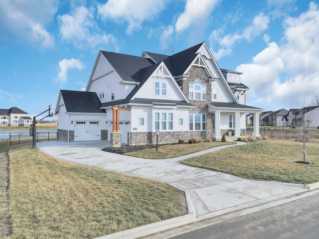
[[[19,108],[0,110],[0,126],[29,126],[30,124],[32,124],[32,119],[29,114]]]

